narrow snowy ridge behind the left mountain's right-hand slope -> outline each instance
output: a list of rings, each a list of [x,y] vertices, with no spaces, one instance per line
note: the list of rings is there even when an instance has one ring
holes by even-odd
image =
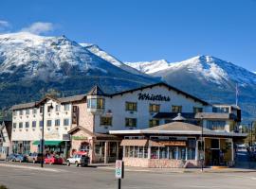
[[[125,70],[127,72],[130,72],[132,74],[136,74],[136,75],[141,75],[141,76],[146,76],[145,74],[139,72],[137,69],[127,66],[126,64],[124,64],[123,62],[121,62],[120,60],[118,60],[117,58],[115,58],[114,56],[108,54],[107,52],[105,52],[104,50],[102,50],[98,45],[96,44],[92,44],[92,43],[80,43],[83,47],[85,47],[88,51],[90,51],[91,53],[101,57],[101,59],[103,60],[107,60],[110,63],[114,64],[115,66],[121,68],[122,70]]]

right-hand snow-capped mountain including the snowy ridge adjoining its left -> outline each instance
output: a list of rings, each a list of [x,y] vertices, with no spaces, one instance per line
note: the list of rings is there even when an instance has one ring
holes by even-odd
[[[237,85],[243,116],[248,119],[256,114],[256,75],[229,61],[197,56],[174,63],[159,60],[128,65],[210,103],[234,104]]]

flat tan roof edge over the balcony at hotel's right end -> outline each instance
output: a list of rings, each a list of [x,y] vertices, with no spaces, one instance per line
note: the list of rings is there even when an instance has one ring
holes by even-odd
[[[196,119],[235,119],[236,116],[233,113],[224,112],[197,112],[194,116]]]

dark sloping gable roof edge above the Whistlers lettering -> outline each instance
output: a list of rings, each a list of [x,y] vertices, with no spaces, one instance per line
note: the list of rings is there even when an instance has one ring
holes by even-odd
[[[136,89],[132,89],[132,90],[128,90],[128,91],[123,91],[123,92],[119,92],[119,93],[116,93],[116,94],[109,94],[109,96],[115,96],[115,95],[119,95],[119,94],[127,94],[127,93],[132,93],[132,92],[135,92],[135,91],[139,91],[139,90],[143,90],[143,89],[147,89],[147,88],[153,88],[155,86],[164,86],[166,88],[168,88],[169,90],[174,90],[175,92],[177,92],[178,94],[183,94],[185,95],[186,97],[190,97],[192,98],[194,101],[198,101],[200,103],[202,103],[203,105],[209,105],[208,102],[198,98],[198,97],[195,97],[193,96],[192,94],[188,94],[186,92],[183,92],[171,85],[168,85],[166,84],[165,82],[158,82],[158,83],[155,83],[155,84],[152,84],[152,85],[146,85],[146,86],[143,86],[143,87],[139,87],[139,88],[136,88]]]

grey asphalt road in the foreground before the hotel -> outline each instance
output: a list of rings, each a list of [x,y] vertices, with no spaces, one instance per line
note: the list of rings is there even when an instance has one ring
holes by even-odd
[[[114,170],[95,167],[74,167],[0,162],[0,184],[9,189],[99,189],[118,188]],[[126,171],[123,189],[190,189],[256,187],[256,172],[246,173],[159,173]]]

